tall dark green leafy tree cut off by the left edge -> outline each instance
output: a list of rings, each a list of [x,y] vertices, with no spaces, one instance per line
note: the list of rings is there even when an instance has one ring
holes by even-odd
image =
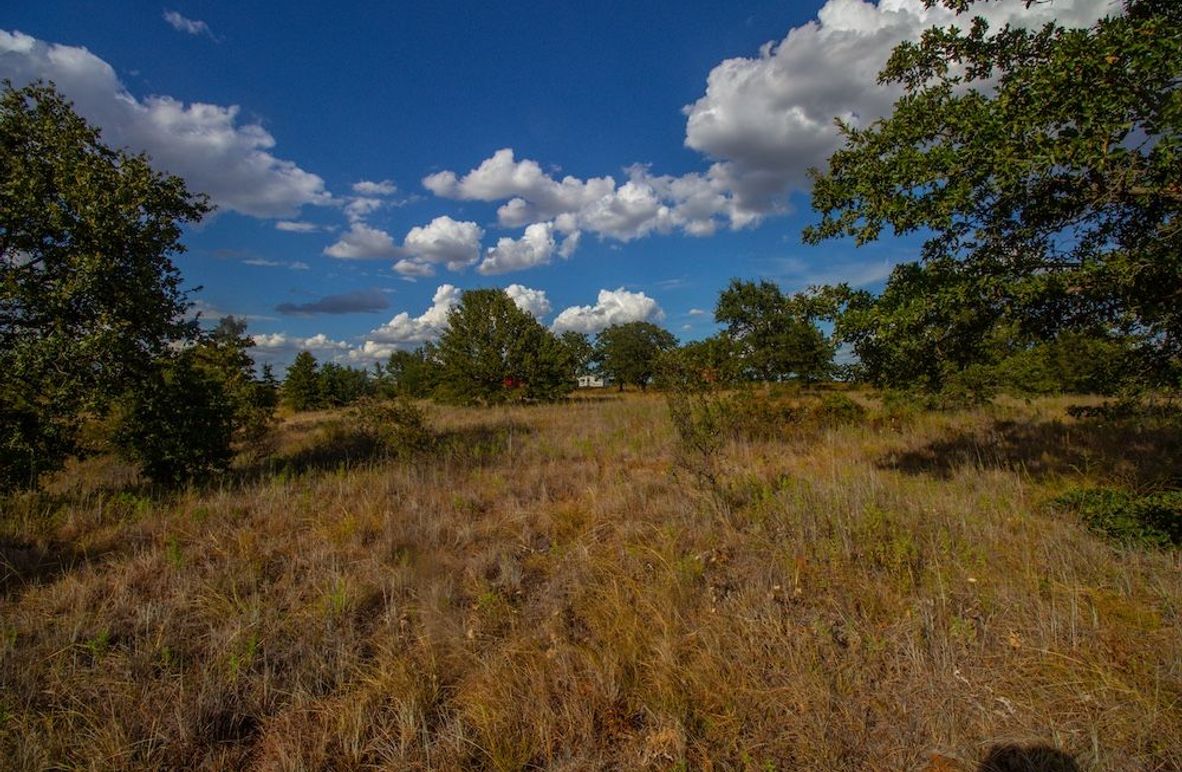
[[[0,95],[0,484],[78,450],[86,415],[199,336],[173,258],[210,210],[112,150],[53,86]]]

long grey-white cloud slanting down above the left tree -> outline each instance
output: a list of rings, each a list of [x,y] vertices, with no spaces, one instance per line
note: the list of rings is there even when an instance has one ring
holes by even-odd
[[[86,48],[0,30],[0,77],[17,86],[52,80],[113,147],[143,150],[160,170],[180,175],[225,209],[291,218],[304,205],[329,203],[324,180],[272,154],[275,138],[239,121],[238,105],[168,96],[132,96],[115,70]]]

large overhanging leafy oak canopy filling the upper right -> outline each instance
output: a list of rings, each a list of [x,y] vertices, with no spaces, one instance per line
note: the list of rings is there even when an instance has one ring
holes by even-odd
[[[928,234],[878,301],[846,298],[863,362],[939,387],[995,358],[999,336],[1005,353],[1074,331],[1135,344],[1143,383],[1177,382],[1182,5],[1123,11],[1090,28],[978,18],[894,51],[879,82],[904,93],[864,129],[840,124],[805,231]]]

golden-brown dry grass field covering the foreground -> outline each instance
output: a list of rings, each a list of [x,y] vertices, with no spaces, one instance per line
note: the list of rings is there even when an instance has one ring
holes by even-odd
[[[1048,505],[1180,439],[857,398],[713,481],[638,394],[426,406],[410,459],[298,416],[181,494],[79,465],[0,525],[0,766],[1182,768],[1178,552]]]

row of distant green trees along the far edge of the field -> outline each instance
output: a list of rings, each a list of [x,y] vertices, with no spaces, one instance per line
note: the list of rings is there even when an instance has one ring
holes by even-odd
[[[715,307],[723,329],[683,345],[649,322],[612,325],[593,338],[554,335],[504,292],[468,291],[437,343],[396,350],[368,369],[320,364],[301,351],[281,394],[296,410],[372,396],[491,404],[553,400],[580,376],[597,376],[617,389],[838,379],[970,403],[999,393],[1106,395],[1168,379],[1147,362],[1144,340],[1111,331],[1038,340],[998,325],[957,349],[965,333],[953,322],[900,307],[898,277],[909,271],[896,272],[877,297],[844,285],[786,294],[769,281],[735,279]]]

